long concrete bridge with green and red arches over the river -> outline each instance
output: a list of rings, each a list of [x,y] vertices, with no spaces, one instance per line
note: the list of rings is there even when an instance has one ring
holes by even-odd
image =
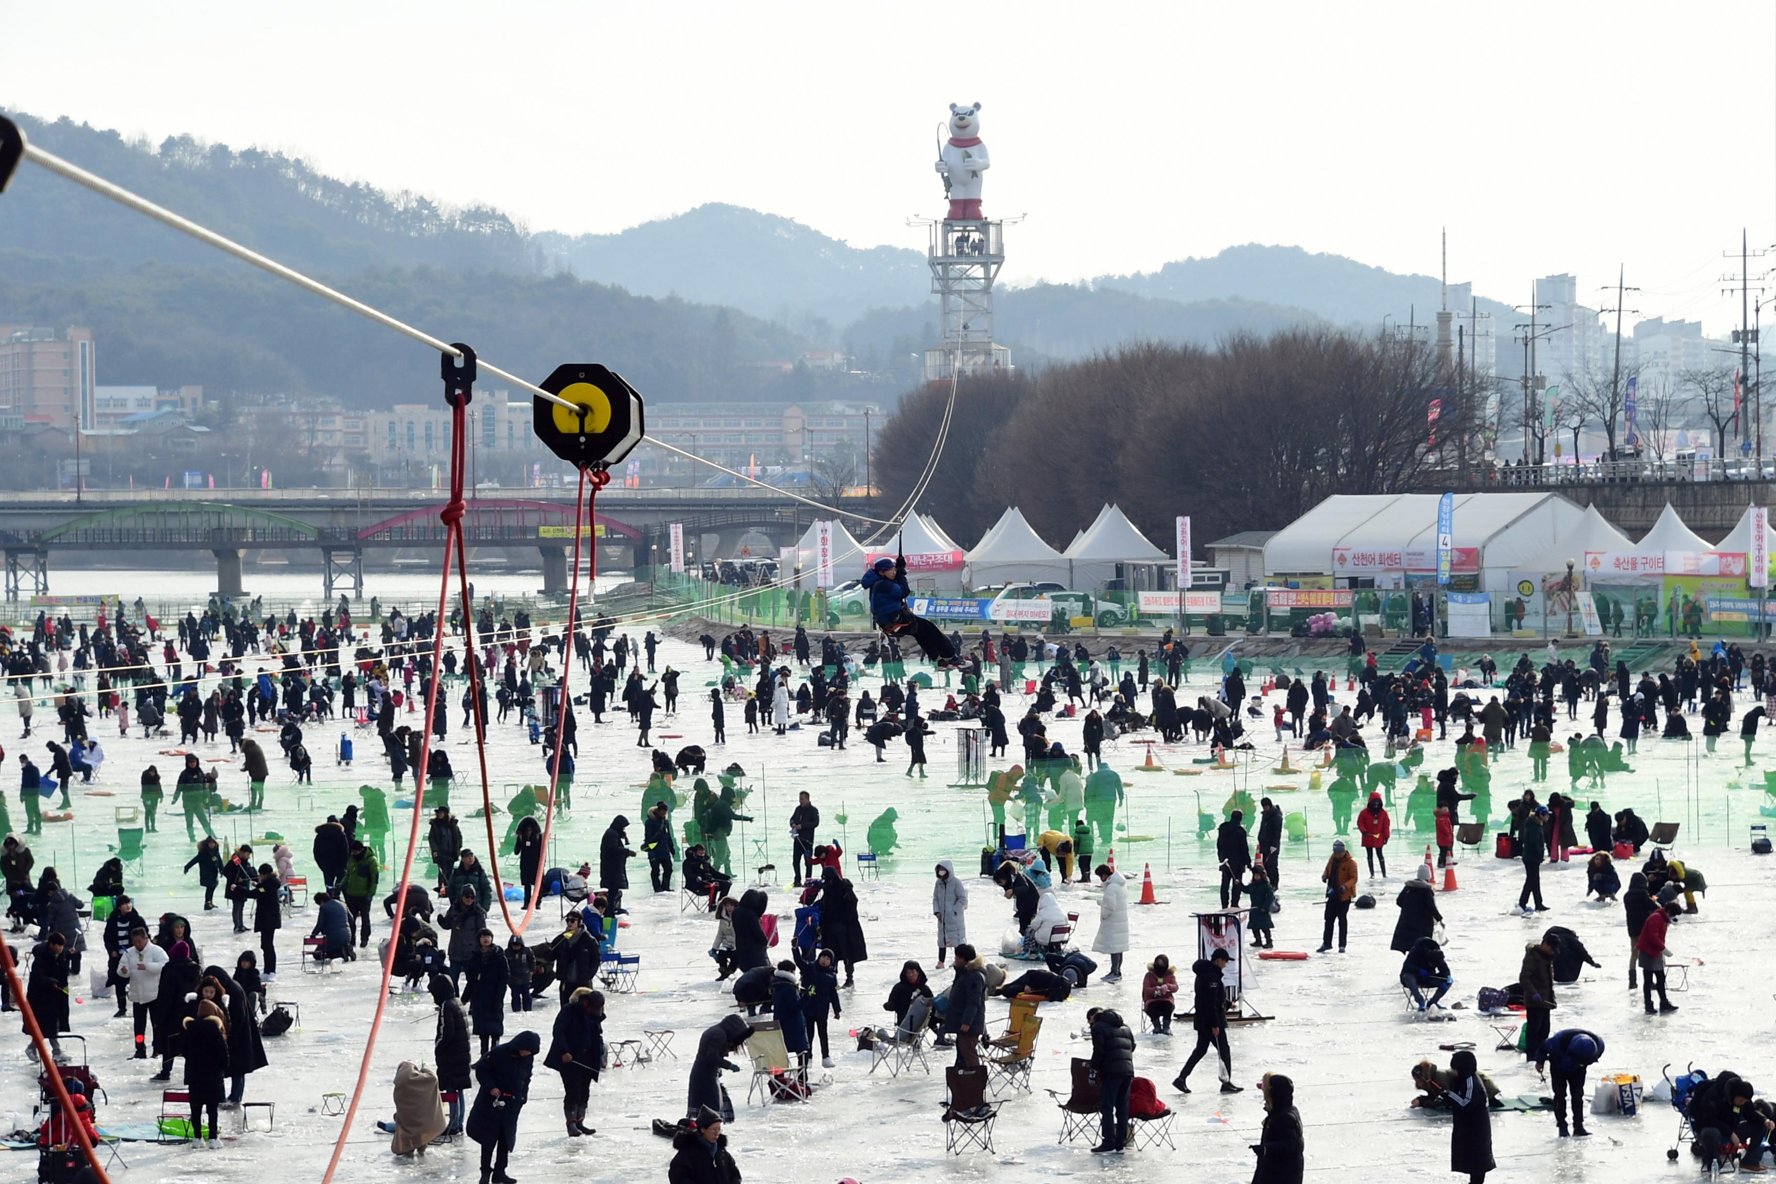
[[[321,595],[362,596],[364,554],[439,549],[440,490],[87,490],[21,493],[0,501],[5,595],[48,591],[55,550],[210,550],[217,589],[240,595],[242,556],[313,550]],[[847,509],[870,513],[867,506]],[[689,557],[728,556],[748,533],[789,545],[821,517],[812,506],[758,488],[625,490],[599,493],[599,561],[634,566],[666,559],[670,525],[684,527]],[[481,490],[469,497],[465,541],[478,549],[531,549],[542,556],[543,593],[565,593],[574,545],[570,490]]]

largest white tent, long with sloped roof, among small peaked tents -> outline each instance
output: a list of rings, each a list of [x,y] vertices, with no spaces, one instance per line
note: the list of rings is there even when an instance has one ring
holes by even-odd
[[[1265,543],[1266,575],[1336,575],[1398,588],[1437,570],[1439,493],[1328,497]],[[1558,493],[1458,493],[1455,570],[1502,591],[1510,572],[1579,527],[1584,511]]]

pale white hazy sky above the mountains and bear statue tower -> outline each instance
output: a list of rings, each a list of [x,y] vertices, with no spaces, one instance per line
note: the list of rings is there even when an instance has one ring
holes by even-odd
[[[616,231],[725,201],[922,249],[934,128],[984,103],[1005,279],[1293,243],[1520,304],[1701,318],[1776,243],[1776,5],[11,5],[0,105],[300,153]],[[1776,257],[1771,259],[1776,264]],[[1776,286],[1771,289],[1776,293]]]

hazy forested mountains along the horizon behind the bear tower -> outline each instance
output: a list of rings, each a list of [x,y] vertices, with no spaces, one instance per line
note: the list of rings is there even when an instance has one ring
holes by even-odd
[[[769,362],[842,346],[883,401],[936,343],[922,252],[852,247],[771,213],[705,204],[570,236],[339,181],[282,153],[11,117],[46,149],[423,328],[481,343],[519,373],[583,357],[661,399],[805,398],[806,378],[790,383]],[[1002,288],[996,339],[1019,366],[1041,366],[1133,339],[1368,330],[1414,309],[1430,320],[1437,295],[1433,277],[1254,243],[1147,273]],[[30,165],[0,197],[0,321],[92,325],[105,383],[314,391],[366,407],[435,385],[424,350]],[[817,392],[858,382],[821,376]]]

